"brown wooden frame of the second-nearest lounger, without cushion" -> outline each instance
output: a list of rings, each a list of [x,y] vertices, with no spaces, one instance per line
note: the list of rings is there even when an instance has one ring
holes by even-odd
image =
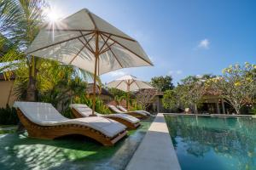
[[[81,115],[79,113],[79,111],[75,110],[74,108],[71,108],[71,111],[73,113],[73,116],[75,116],[76,118],[84,117],[83,115]],[[108,119],[112,119],[112,120],[114,120],[116,122],[120,122],[120,123],[124,124],[129,130],[130,129],[136,129],[137,127],[139,127],[141,125],[140,122],[132,123],[132,122],[125,121],[124,119],[121,119],[119,117],[108,116],[108,115],[104,115],[102,117],[105,117],[105,118],[108,118]]]

